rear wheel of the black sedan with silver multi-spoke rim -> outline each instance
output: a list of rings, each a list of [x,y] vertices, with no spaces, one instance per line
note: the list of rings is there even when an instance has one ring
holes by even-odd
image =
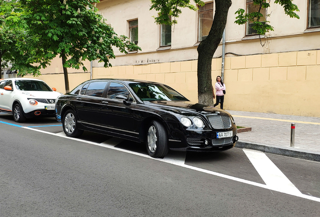
[[[62,118],[62,127],[67,137],[78,137],[83,134],[83,130],[78,129],[78,117],[73,110],[68,110]]]

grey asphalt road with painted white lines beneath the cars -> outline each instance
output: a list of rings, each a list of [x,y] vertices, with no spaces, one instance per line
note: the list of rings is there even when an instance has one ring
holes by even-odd
[[[320,163],[171,151],[0,114],[0,216],[319,216]],[[241,136],[241,135],[239,135]]]

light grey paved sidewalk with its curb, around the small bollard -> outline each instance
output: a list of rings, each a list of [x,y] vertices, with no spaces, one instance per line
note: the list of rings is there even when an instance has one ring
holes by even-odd
[[[237,126],[252,128],[251,132],[237,134],[235,147],[320,161],[320,118],[227,112]],[[295,123],[294,147],[290,147],[291,123]]]

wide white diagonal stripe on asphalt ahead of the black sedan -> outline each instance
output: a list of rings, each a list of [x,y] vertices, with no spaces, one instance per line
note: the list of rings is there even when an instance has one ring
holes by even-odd
[[[265,153],[248,149],[243,149],[243,151],[267,186],[278,190],[301,194],[294,184],[292,184]]]

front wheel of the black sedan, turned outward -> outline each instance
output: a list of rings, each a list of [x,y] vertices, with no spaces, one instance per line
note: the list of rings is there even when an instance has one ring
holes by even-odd
[[[168,154],[167,132],[165,127],[158,121],[151,121],[148,125],[145,145],[151,157],[164,158]]]

